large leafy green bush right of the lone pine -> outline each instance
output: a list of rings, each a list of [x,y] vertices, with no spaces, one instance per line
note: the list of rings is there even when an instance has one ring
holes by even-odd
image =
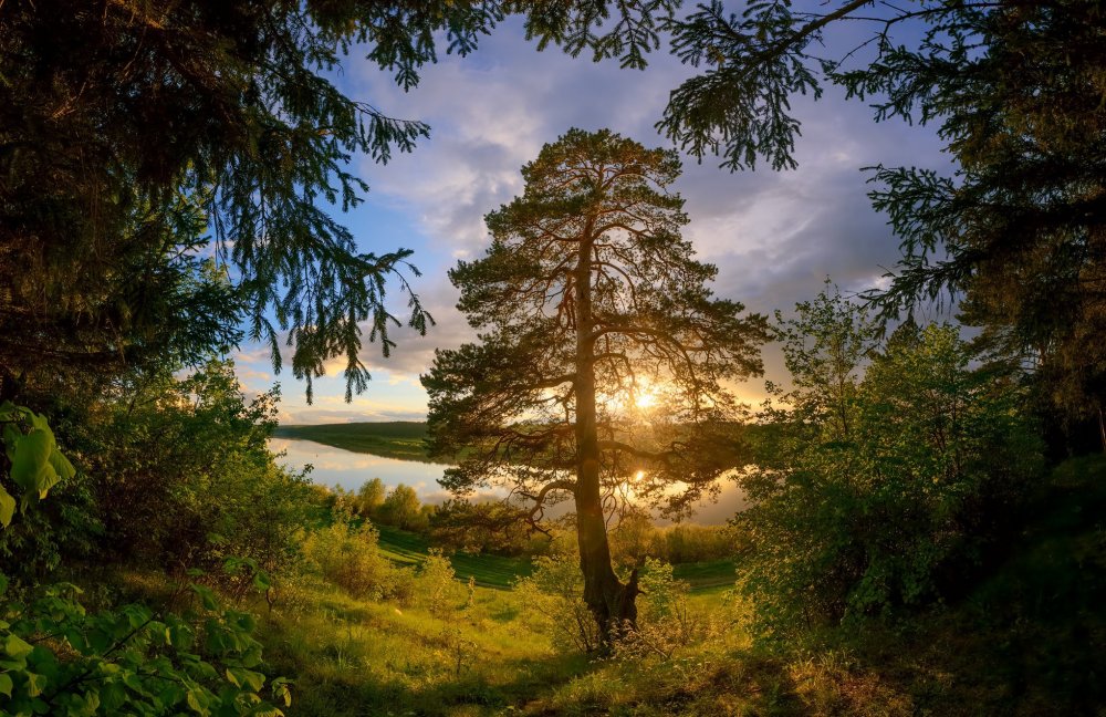
[[[1041,467],[1008,376],[948,325],[874,342],[839,294],[781,326],[795,388],[770,409],[739,513],[740,584],[764,631],[924,605],[971,580]]]

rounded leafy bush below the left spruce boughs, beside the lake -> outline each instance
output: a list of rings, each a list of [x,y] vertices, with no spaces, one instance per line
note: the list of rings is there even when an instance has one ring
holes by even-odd
[[[274,578],[291,569],[312,508],[305,477],[268,448],[279,391],[247,401],[232,364],[213,360],[182,381],[139,373],[116,391],[72,436],[108,550],[205,569],[238,555]]]

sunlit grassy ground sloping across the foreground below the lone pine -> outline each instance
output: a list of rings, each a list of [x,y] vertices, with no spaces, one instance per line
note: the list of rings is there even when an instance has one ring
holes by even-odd
[[[401,603],[314,581],[269,614],[261,638],[269,672],[295,680],[289,715],[1095,714],[1102,689],[1076,676],[1094,674],[1106,636],[1094,604],[1106,589],[1095,517],[1106,491],[1085,492],[1104,469],[1062,466],[1050,508],[1010,558],[960,600],[909,621],[754,642],[748,605],[731,592],[740,562],[738,572],[728,561],[687,563],[674,575],[689,583],[690,636],[597,659],[559,646],[513,588],[531,574],[528,561],[459,553],[444,605],[426,602],[424,583],[421,598]],[[400,565],[421,564],[429,548],[387,527],[378,544]],[[658,630],[679,632],[664,621]]]

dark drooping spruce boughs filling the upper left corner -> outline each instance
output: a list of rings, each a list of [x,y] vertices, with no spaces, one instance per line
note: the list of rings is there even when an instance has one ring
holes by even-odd
[[[167,353],[198,363],[244,335],[298,378],[368,340],[431,321],[404,249],[372,252],[332,215],[429,128],[343,94],[344,54],[405,89],[466,54],[508,13],[526,33],[639,66],[672,0],[522,2],[95,2],[0,7],[0,368],[117,370]],[[613,17],[612,17],[613,15]],[[604,24],[607,23],[608,24]],[[601,28],[602,25],[602,28]],[[364,245],[362,245],[364,246]],[[213,268],[204,264],[208,258]]]

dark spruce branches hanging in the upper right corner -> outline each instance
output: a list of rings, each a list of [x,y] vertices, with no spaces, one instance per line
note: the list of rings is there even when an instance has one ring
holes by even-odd
[[[870,27],[859,44],[828,30]],[[671,95],[658,127],[731,169],[796,166],[796,94],[826,83],[873,103],[875,118],[933,125],[952,176],[869,168],[902,258],[868,298],[898,315],[961,301],[1008,352],[1054,378],[1070,408],[1106,395],[1103,177],[1106,22],[1099,3],[838,0],[815,11],[713,1],[672,20],[674,49],[707,65]],[[842,37],[856,37],[842,33]]]

